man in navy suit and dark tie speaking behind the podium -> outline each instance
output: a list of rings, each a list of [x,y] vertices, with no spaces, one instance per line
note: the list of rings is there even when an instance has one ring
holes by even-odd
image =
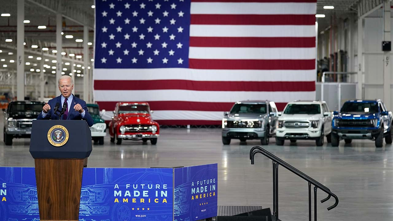
[[[89,114],[86,102],[79,99],[71,93],[73,90],[72,78],[67,75],[63,75],[58,81],[59,90],[61,95],[50,99],[44,107],[42,107],[41,114],[38,115],[37,120],[86,120],[87,125],[91,127],[93,123],[93,118]],[[59,110],[66,105],[66,111],[59,119],[54,112],[56,103],[60,104]]]

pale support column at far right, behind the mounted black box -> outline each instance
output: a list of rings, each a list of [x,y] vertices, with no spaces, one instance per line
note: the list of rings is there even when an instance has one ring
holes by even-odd
[[[384,41],[391,41],[390,36],[390,1],[384,1]],[[390,101],[390,52],[384,52],[384,102],[387,110],[391,108]]]

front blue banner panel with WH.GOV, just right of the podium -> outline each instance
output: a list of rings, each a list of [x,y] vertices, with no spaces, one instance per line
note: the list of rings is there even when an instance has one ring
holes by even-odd
[[[79,220],[173,220],[173,169],[84,168]]]

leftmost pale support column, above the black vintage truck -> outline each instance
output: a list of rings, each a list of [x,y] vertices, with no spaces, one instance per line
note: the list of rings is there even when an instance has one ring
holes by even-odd
[[[24,79],[24,0],[18,0],[17,9],[17,97],[23,101],[25,96]]]

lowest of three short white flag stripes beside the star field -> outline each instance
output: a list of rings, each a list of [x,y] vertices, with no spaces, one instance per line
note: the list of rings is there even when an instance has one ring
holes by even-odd
[[[194,59],[315,59],[315,48],[216,48],[190,47]]]

